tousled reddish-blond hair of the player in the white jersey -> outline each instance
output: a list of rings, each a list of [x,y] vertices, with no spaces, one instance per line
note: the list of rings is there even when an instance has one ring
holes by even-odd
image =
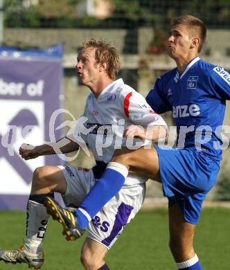
[[[83,42],[82,49],[96,48],[95,60],[96,64],[107,64],[107,75],[115,80],[116,74],[121,69],[121,62],[116,48],[105,39],[89,39]]]

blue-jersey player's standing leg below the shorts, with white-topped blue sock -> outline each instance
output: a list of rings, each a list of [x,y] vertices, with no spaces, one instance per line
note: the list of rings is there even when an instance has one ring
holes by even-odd
[[[177,263],[178,269],[201,270],[199,259],[193,249],[195,224],[184,220],[184,215],[179,204],[168,208],[170,250]]]

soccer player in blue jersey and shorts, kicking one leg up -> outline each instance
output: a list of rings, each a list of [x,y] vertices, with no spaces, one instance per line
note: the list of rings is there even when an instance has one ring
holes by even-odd
[[[200,59],[206,37],[204,23],[191,15],[172,21],[168,53],[177,68],[157,79],[147,101],[161,114],[172,111],[177,125],[177,147],[152,146],[117,150],[112,162],[129,172],[160,181],[168,197],[170,250],[178,269],[200,270],[193,238],[202,202],[213,188],[222,159],[221,127],[225,100],[230,100],[230,75],[220,66]],[[150,138],[148,132],[131,126],[124,136]],[[107,168],[80,208],[72,213],[73,225],[61,208],[66,231],[77,236],[125,181],[123,173]],[[116,182],[117,189],[110,188]],[[55,207],[48,206],[47,208]],[[89,217],[90,216],[90,217]],[[75,230],[75,231],[74,231]],[[80,235],[79,235],[80,236]]]

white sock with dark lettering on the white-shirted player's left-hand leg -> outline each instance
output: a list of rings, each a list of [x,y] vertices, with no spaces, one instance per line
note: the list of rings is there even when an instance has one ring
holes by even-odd
[[[42,250],[42,241],[46,232],[48,222],[46,207],[36,201],[28,200],[26,217],[26,247],[33,249],[31,253],[37,253]],[[36,251],[36,252],[34,252]]]

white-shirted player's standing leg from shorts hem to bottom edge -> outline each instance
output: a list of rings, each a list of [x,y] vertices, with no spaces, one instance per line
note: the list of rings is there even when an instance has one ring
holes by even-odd
[[[104,245],[87,237],[82,246],[80,260],[87,270],[109,270],[104,261],[107,252],[108,249]]]

